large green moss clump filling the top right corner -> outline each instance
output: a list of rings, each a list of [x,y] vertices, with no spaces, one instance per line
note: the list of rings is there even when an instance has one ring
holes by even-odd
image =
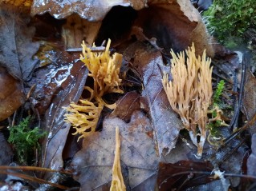
[[[215,0],[204,12],[206,25],[222,43],[227,38],[242,37],[249,28],[256,26],[256,3],[251,0]]]

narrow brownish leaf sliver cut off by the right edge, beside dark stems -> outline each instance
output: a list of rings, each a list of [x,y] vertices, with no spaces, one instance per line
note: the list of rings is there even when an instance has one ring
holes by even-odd
[[[246,74],[245,93],[242,100],[246,118],[250,119],[256,113],[256,79],[249,70]],[[250,126],[250,133],[256,133],[256,124]]]

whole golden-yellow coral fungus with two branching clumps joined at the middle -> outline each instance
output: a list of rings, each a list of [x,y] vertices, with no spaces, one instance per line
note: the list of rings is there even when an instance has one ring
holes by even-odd
[[[93,52],[83,42],[83,54],[80,60],[87,66],[89,76],[94,80],[93,90],[86,86],[85,90],[91,93],[91,97],[79,100],[79,104],[71,103],[67,107],[69,113],[65,114],[67,121],[76,129],[74,134],[81,134],[81,137],[86,137],[88,131],[95,131],[100,113],[104,105],[110,109],[115,108],[115,105],[108,105],[102,97],[108,93],[123,93],[120,90],[119,78],[120,66],[122,63],[121,54],[111,55],[109,51],[111,41],[108,40],[104,52]]]

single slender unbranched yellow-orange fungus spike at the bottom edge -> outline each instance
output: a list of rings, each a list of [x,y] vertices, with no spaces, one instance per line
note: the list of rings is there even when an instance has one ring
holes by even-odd
[[[112,168],[112,182],[110,191],[125,191],[126,187],[124,185],[124,178],[121,171],[120,165],[120,137],[119,128],[116,127],[116,152],[115,159]]]

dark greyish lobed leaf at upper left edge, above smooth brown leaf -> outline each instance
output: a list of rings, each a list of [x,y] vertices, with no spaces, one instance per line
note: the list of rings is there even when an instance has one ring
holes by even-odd
[[[19,7],[1,4],[0,9],[0,66],[22,81],[27,81],[37,60],[32,58],[39,43],[32,42],[35,29],[27,26],[30,14]]]

